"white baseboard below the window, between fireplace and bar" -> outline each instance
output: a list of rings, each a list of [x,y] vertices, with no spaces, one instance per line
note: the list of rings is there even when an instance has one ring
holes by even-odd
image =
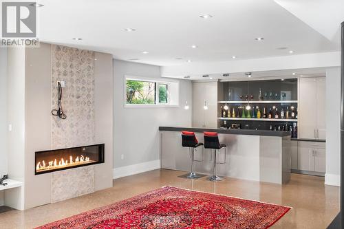
[[[114,179],[117,179],[120,177],[127,177],[129,175],[144,173],[158,168],[160,168],[160,160],[155,160],[140,164],[131,164],[129,166],[123,166],[120,168],[114,168],[112,175]]]

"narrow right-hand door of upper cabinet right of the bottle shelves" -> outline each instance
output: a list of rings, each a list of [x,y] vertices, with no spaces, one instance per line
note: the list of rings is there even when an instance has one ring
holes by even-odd
[[[316,79],[316,138],[325,140],[325,77]]]

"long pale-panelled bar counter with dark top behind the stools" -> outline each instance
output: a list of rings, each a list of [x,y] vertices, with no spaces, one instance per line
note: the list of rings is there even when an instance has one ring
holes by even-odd
[[[290,179],[291,148],[288,131],[200,127],[159,127],[159,131],[161,168],[190,171],[189,148],[182,147],[181,131],[195,132],[199,142],[204,142],[204,131],[214,131],[219,133],[219,142],[227,146],[226,163],[217,164],[218,175],[275,184],[284,184]],[[224,149],[219,152],[220,162],[224,161],[224,152]],[[195,160],[202,160],[195,162],[197,173],[213,173],[209,149],[198,147]]]

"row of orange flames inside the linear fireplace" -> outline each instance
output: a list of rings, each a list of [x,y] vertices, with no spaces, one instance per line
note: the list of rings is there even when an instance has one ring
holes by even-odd
[[[45,170],[52,170],[55,168],[64,168],[64,167],[70,167],[70,166],[76,166],[79,164],[88,164],[90,162],[94,162],[93,160],[89,160],[89,157],[84,157],[84,155],[77,156],[75,160],[73,160],[72,156],[69,156],[69,161],[65,160],[65,158],[51,160],[50,162],[47,162],[47,165],[45,161],[38,162],[36,164],[36,171],[45,171]]]

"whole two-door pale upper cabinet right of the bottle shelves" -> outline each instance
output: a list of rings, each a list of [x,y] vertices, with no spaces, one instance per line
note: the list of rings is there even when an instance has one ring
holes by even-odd
[[[325,77],[299,79],[299,138],[325,140]]]

